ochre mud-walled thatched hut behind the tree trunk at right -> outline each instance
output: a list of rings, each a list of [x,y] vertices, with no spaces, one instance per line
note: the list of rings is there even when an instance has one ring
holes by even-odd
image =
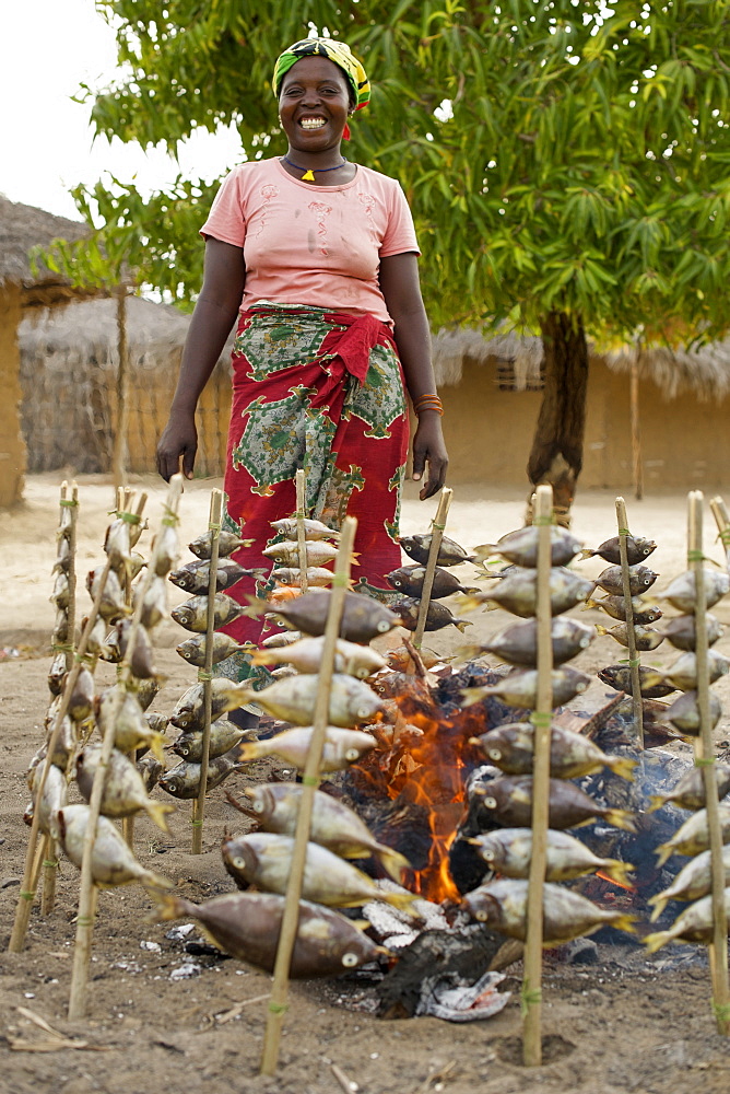
[[[449,481],[528,486],[526,466],[542,399],[540,338],[439,331]],[[637,377],[639,463],[647,489],[730,485],[730,340],[697,349],[591,348],[580,488],[626,490],[634,480],[631,386]]]

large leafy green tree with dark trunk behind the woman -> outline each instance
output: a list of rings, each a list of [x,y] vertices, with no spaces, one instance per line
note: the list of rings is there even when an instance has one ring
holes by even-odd
[[[539,331],[545,391],[528,474],[568,511],[581,466],[587,338],[687,342],[730,325],[730,4],[594,0],[99,0],[122,77],[89,95],[96,130],[178,148],[234,124],[275,154],[273,61],[310,25],[374,83],[354,155],[397,176],[434,325]],[[144,281],[188,302],[212,197],[81,188],[128,230]],[[105,230],[99,247],[104,249]],[[80,276],[79,248],[67,268]],[[488,407],[485,407],[488,423]]]

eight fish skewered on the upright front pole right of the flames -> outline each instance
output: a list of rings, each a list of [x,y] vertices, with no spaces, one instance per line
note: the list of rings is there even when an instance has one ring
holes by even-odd
[[[478,548],[483,557],[495,552],[513,569],[499,580],[497,592],[506,590],[501,606],[526,621],[513,625],[491,642],[463,651],[462,659],[497,653],[515,665],[503,682],[487,687],[466,688],[463,706],[470,707],[496,696],[508,707],[535,710],[538,706],[537,562],[540,532],[537,527],[511,533],[496,544]],[[563,667],[588,645],[591,628],[562,613],[587,595],[584,579],[561,571],[580,549],[563,528],[551,528],[551,624],[553,661],[553,707],[562,706],[584,687],[588,677]],[[509,583],[509,584],[507,584]],[[511,586],[511,587],[510,587]],[[591,584],[591,589],[592,589]],[[490,594],[486,594],[490,596]],[[480,594],[476,597],[482,601]],[[493,930],[525,940],[527,935],[529,872],[532,858],[532,800],[535,725],[519,721],[498,725],[473,737],[486,759],[468,780],[467,815],[459,836],[472,845],[491,878],[463,897],[470,916]],[[567,780],[610,767],[623,778],[632,777],[634,763],[608,756],[580,734],[551,725],[550,781],[548,801],[546,870],[543,892],[543,942],[557,945],[610,924],[633,931],[634,919],[616,909],[601,908],[581,894],[560,883],[602,870],[626,884],[626,863],[593,854],[565,829],[598,818],[633,829],[631,815],[605,808]],[[494,875],[498,876],[494,876]]]

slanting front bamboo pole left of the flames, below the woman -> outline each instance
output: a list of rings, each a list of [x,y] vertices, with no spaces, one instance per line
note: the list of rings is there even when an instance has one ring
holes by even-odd
[[[329,721],[330,689],[332,674],[334,672],[334,652],[337,640],[340,635],[342,613],[344,609],[344,596],[350,583],[350,559],[353,544],[355,542],[355,529],[357,521],[352,516],[346,516],[342,524],[340,537],[340,549],[334,562],[334,578],[332,580],[332,593],[327,616],[327,627],[325,628],[325,643],[322,647],[322,659],[319,666],[319,685],[317,690],[317,701],[313,718],[313,734],[307,760],[302,777],[303,790],[299,801],[299,812],[296,821],[296,835],[294,837],[294,848],[292,850],[292,869],[286,886],[286,898],[284,913],[282,916],[281,932],[279,935],[279,948],[276,950],[276,962],[274,964],[273,985],[269,999],[269,1012],[267,1015],[267,1028],[263,1038],[263,1054],[261,1057],[261,1074],[273,1075],[279,1062],[279,1046],[281,1041],[284,1013],[289,998],[289,973],[292,964],[292,953],[296,941],[296,932],[299,921],[299,899],[302,897],[302,882],[304,880],[304,868],[307,856],[307,842],[311,829],[311,813],[315,804],[315,790],[319,783],[319,768],[321,764],[322,749],[327,735],[327,724]]]

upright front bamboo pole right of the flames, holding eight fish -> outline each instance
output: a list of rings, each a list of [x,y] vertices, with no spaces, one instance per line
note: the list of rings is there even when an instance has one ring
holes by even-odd
[[[522,1062],[542,1063],[543,894],[550,824],[550,737],[553,717],[553,636],[550,595],[553,491],[539,486],[534,497],[538,526],[538,694],[530,721],[534,726],[532,767],[532,857],[527,898],[527,935],[522,982]]]

